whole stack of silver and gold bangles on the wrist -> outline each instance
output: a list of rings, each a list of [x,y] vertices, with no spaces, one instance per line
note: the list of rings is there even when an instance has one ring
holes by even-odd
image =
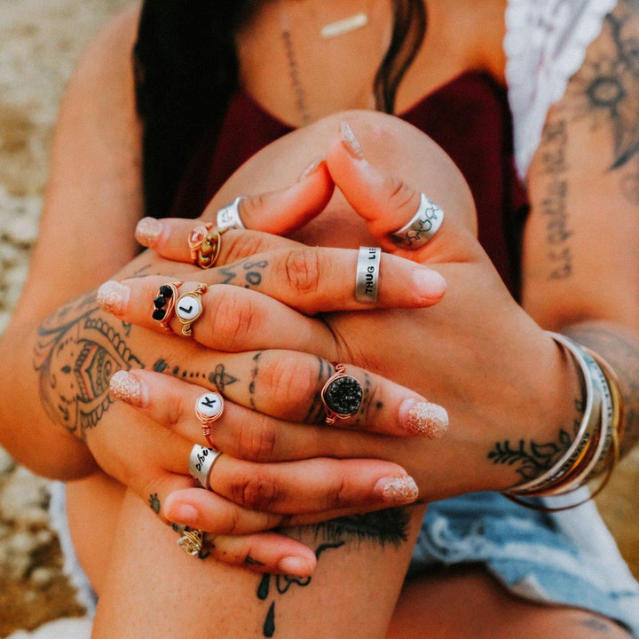
[[[611,477],[619,459],[619,439],[623,431],[624,406],[619,382],[608,363],[596,353],[565,335],[549,333],[580,367],[586,402],[575,437],[546,472],[525,484],[504,491],[513,501],[533,509],[555,511],[572,509],[599,493]],[[554,508],[528,503],[522,497],[559,496],[573,493],[601,476],[601,483],[586,500]]]

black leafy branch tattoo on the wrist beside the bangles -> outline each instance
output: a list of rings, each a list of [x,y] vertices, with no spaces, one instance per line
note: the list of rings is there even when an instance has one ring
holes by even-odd
[[[520,483],[540,477],[559,461],[572,446],[580,428],[584,412],[582,396],[574,399],[575,416],[572,432],[560,428],[554,441],[536,442],[533,439],[519,439],[517,443],[504,439],[495,443],[488,453],[488,459],[494,464],[508,464],[519,475]]]

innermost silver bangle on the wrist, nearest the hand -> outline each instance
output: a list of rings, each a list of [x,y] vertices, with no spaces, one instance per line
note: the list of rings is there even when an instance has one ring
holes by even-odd
[[[599,379],[599,375],[603,375],[601,368],[598,367],[596,361],[592,359],[587,352],[580,348],[578,343],[573,342],[569,337],[549,331],[548,335],[550,335],[556,343],[564,347],[564,350],[569,352],[570,355],[572,355],[572,359],[579,364],[581,376],[586,385],[586,406],[584,408],[584,414],[571,446],[568,447],[568,450],[562,455],[559,461],[557,461],[552,468],[541,474],[540,477],[535,477],[525,484],[514,486],[504,491],[505,493],[525,495],[527,493],[539,492],[546,486],[554,484],[557,479],[572,468],[572,464],[580,457],[580,454],[583,453],[584,448],[588,445],[591,438],[595,436],[596,430],[601,428],[602,390],[600,389],[599,383],[596,382],[596,380]]]

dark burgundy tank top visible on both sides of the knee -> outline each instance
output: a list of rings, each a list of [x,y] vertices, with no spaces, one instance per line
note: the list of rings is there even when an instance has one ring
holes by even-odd
[[[468,72],[398,117],[435,140],[461,170],[475,198],[479,241],[518,298],[520,241],[528,207],[515,171],[506,90],[487,74]],[[202,138],[177,193],[174,214],[198,217],[241,164],[291,130],[247,93],[237,92],[220,129]]]

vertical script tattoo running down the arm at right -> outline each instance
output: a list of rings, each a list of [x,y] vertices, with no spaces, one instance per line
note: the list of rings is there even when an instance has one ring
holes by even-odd
[[[540,144],[542,170],[547,177],[540,211],[546,224],[549,280],[565,280],[572,275],[572,230],[568,225],[568,166],[565,158],[567,144],[566,121],[549,121],[544,127]]]

